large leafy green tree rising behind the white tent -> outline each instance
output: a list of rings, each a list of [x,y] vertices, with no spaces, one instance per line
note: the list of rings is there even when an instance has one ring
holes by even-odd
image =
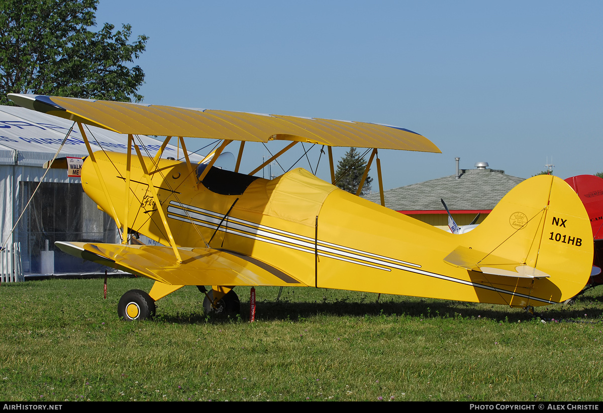
[[[133,63],[147,36],[128,43],[121,30],[96,24],[98,0],[0,0],[0,104],[7,93],[136,102],[145,74]],[[128,67],[129,66],[129,67]]]

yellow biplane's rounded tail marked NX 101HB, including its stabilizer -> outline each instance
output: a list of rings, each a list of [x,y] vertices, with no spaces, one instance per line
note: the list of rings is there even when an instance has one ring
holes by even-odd
[[[575,296],[592,269],[592,232],[584,205],[566,182],[552,175],[526,179],[481,225],[459,236],[461,246],[446,262],[487,274],[532,278],[531,295],[540,301]]]

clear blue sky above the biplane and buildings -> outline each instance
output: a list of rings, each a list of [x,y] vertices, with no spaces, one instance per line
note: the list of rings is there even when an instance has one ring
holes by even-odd
[[[561,178],[603,171],[602,12],[598,1],[100,0],[96,21],[150,37],[136,61],[147,104],[387,123],[440,147],[381,151],[388,189],[452,175],[455,157],[523,178],[547,158]],[[267,155],[248,151],[242,172]]]

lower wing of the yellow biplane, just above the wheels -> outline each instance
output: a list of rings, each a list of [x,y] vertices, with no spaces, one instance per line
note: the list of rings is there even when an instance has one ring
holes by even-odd
[[[212,248],[57,242],[80,258],[133,272],[168,285],[291,285],[306,286],[288,274],[250,256]]]

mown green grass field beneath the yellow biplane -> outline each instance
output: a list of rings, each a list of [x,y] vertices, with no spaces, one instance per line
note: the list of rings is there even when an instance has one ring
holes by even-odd
[[[0,286],[1,400],[603,400],[603,287],[520,309],[315,288],[237,288],[240,317],[185,287],[118,320],[147,279]],[[552,321],[551,319],[560,321]],[[543,322],[546,320],[546,322]]]

